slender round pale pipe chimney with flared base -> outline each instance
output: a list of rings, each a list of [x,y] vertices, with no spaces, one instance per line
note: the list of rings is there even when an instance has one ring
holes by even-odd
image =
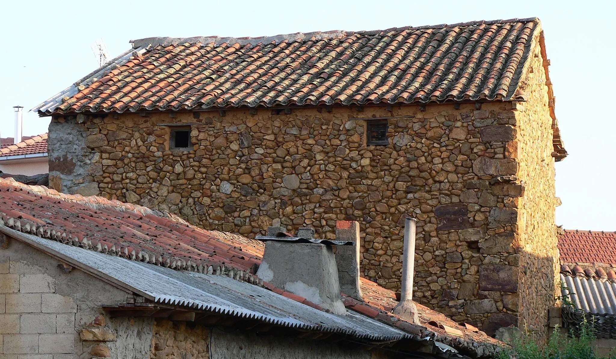
[[[402,288],[400,302],[394,308],[394,314],[419,324],[417,306],[413,302],[413,275],[415,272],[415,231],[417,220],[409,218],[404,224],[404,249],[402,253]]]

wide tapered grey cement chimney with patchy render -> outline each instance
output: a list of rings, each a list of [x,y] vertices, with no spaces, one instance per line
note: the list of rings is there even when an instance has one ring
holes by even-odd
[[[276,236],[285,232],[284,229],[270,227],[267,234]],[[300,228],[297,236],[312,238],[312,233],[311,228]],[[257,276],[335,314],[346,315],[333,246],[265,240],[265,252]]]

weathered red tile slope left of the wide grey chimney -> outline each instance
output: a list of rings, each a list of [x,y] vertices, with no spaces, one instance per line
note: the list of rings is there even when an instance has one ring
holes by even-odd
[[[171,267],[190,261],[247,271],[261,262],[251,254],[260,242],[243,236],[203,230],[172,214],[129,203],[65,195],[12,179],[0,179],[0,216],[5,223],[20,220],[20,226],[40,228],[39,236],[80,243],[86,238],[90,248],[100,244],[103,252],[126,257],[147,253],[150,260]]]

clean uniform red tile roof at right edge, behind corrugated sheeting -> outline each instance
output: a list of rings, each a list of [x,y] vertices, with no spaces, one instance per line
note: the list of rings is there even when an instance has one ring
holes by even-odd
[[[616,232],[565,230],[558,249],[564,264],[616,264]]]

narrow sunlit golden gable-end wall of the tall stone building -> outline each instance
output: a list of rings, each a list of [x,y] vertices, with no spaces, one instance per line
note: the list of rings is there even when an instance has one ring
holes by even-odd
[[[527,102],[517,111],[519,128],[519,178],[524,197],[519,203],[521,254],[520,311],[521,325],[537,330],[541,339],[548,333],[548,307],[559,295],[559,260],[555,210],[559,203],[555,192],[554,158],[548,86],[538,34],[533,53],[522,80]]]

